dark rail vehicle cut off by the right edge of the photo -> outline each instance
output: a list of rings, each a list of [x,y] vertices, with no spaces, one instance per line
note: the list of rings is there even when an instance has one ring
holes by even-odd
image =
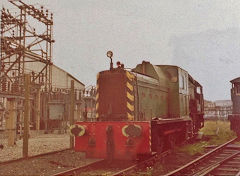
[[[240,138],[240,77],[230,81],[232,83],[231,99],[233,103],[232,114],[228,116],[231,130]]]

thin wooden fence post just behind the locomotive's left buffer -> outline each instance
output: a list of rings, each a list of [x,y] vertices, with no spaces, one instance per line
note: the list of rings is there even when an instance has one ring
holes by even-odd
[[[74,123],[74,80],[71,80],[71,92],[70,92],[70,125]],[[74,138],[70,136],[70,148],[74,147]]]

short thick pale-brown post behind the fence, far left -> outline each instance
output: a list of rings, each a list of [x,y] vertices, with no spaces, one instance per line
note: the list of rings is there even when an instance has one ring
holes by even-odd
[[[8,116],[6,118],[6,127],[8,131],[8,146],[13,146],[16,138],[16,100],[14,98],[7,101]]]

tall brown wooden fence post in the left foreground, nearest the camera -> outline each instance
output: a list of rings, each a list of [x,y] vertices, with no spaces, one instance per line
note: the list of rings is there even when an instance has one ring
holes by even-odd
[[[30,75],[24,75],[24,131],[23,131],[23,157],[28,157],[28,137],[29,137],[29,119],[30,119]]]

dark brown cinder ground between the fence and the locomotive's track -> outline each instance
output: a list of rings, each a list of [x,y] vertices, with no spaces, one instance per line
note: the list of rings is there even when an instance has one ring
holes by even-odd
[[[96,161],[66,149],[4,162],[0,164],[0,175],[54,175]]]

